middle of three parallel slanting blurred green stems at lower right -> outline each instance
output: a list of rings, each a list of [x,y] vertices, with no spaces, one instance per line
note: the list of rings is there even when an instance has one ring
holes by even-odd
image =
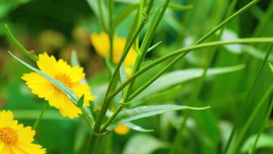
[[[232,148],[232,152],[231,153],[236,153],[236,151],[238,150],[239,146],[242,143],[242,140],[244,139],[244,136],[245,136],[247,130],[250,128],[252,122],[254,121],[255,117],[259,113],[259,110],[260,110],[261,106],[263,105],[263,103],[265,102],[265,100],[268,98],[268,96],[270,95],[270,93],[272,92],[272,90],[273,90],[273,84],[271,84],[269,86],[269,88],[266,90],[265,94],[262,96],[262,98],[260,99],[260,101],[255,106],[255,109],[253,110],[253,112],[250,114],[250,117],[248,118],[246,124],[244,125],[244,127],[242,128],[242,130],[238,134],[238,137],[236,138],[236,141],[234,143],[234,146]]]

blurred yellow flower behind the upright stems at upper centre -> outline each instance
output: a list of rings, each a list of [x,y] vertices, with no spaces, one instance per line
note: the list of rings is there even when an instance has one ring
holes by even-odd
[[[106,58],[109,56],[110,43],[109,36],[105,32],[101,32],[100,34],[93,33],[90,35],[91,43],[96,49],[97,53]],[[118,36],[114,36],[113,40],[113,60],[114,63],[118,63],[119,55],[122,55],[123,50],[125,48],[126,39]],[[132,66],[135,63],[136,57],[138,54],[131,48],[124,59],[124,65],[126,69],[127,76],[130,76]]]

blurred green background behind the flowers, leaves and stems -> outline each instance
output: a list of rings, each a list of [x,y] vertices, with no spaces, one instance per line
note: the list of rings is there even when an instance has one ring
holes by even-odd
[[[94,0],[95,1],[95,0]],[[95,16],[87,1],[53,1],[53,0],[0,0],[0,107],[15,113],[20,123],[32,126],[39,115],[39,110],[45,102],[25,86],[20,79],[23,73],[30,70],[18,63],[8,54],[12,51],[18,57],[35,66],[8,40],[5,33],[5,23],[12,30],[17,40],[26,49],[36,54],[48,52],[57,58],[70,61],[71,51],[75,50],[81,66],[93,93],[98,97],[94,102],[98,105],[104,96],[105,87],[109,80],[104,59],[96,54],[90,44],[89,35],[101,31],[99,19]],[[236,5],[239,10],[250,1],[240,0]],[[89,3],[89,4],[88,4]],[[115,1],[114,17],[127,7],[138,4],[139,1]],[[167,9],[160,23],[153,43],[162,43],[149,52],[146,61],[154,60],[175,49],[189,46],[202,35],[220,23],[230,5],[228,0],[192,0],[171,1],[173,4],[192,5],[191,9],[180,11]],[[118,26],[116,33],[126,37],[136,14],[134,9]],[[222,40],[234,40],[243,37],[272,37],[273,36],[273,2],[261,1],[235,20],[227,27]],[[141,39],[145,30],[141,34]],[[215,41],[216,35],[208,41]],[[238,115],[248,88],[253,81],[258,66],[265,55],[268,44],[251,46],[225,46],[217,48],[211,67],[226,67],[245,64],[240,71],[209,76],[202,87],[198,99],[200,106],[210,105],[211,109],[194,111],[184,132],[184,142],[181,143],[183,153],[219,153],[220,148],[229,137],[235,117]],[[206,48],[192,52],[180,60],[169,71],[187,68],[204,67],[208,55],[212,51]],[[268,61],[273,62],[273,54]],[[134,88],[140,87],[169,61],[162,63],[143,74]],[[251,100],[247,105],[245,117],[249,117],[254,105],[260,100],[269,84],[272,75],[268,65],[262,70],[258,84],[254,87]],[[183,78],[183,76],[181,76]],[[137,104],[187,104],[194,89],[195,80],[179,83],[139,100]],[[267,102],[269,99],[267,100]],[[256,117],[248,137],[255,134],[265,117],[268,103],[264,103]],[[173,140],[177,127],[181,123],[183,112],[168,112],[155,117],[135,121],[151,133],[140,133],[134,130],[124,136],[110,133],[100,142],[105,144],[98,153],[166,153]],[[243,125],[243,123],[241,124]],[[273,121],[266,125],[263,136],[258,144],[257,153],[273,152]],[[88,128],[79,118],[70,120],[63,118],[58,110],[50,107],[37,128],[35,142],[47,148],[47,153],[84,153],[88,139]],[[242,144],[242,152],[247,151],[247,141]],[[150,145],[147,147],[147,145]]]

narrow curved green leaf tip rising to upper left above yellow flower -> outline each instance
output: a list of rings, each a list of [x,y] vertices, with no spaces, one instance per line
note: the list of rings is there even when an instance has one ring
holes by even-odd
[[[38,60],[38,57],[31,54],[29,51],[27,51],[24,46],[22,46],[17,40],[16,38],[13,36],[13,34],[11,33],[8,25],[6,24],[5,25],[6,27],[6,32],[7,32],[7,35],[9,36],[10,40],[16,45],[17,48],[20,49],[21,52],[23,52],[26,56],[28,56],[29,58],[31,58],[32,60],[34,61],[37,61]]]

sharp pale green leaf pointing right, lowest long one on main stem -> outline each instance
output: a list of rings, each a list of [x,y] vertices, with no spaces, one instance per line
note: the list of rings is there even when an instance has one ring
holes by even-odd
[[[164,112],[183,110],[183,109],[193,109],[193,110],[202,110],[207,109],[207,107],[189,107],[189,106],[180,106],[180,105],[156,105],[156,106],[141,106],[135,107],[130,110],[121,111],[117,117],[113,120],[107,128],[108,131],[113,130],[120,124],[124,124],[130,121],[137,119],[142,119],[146,117],[151,117],[153,115],[161,114]]]

